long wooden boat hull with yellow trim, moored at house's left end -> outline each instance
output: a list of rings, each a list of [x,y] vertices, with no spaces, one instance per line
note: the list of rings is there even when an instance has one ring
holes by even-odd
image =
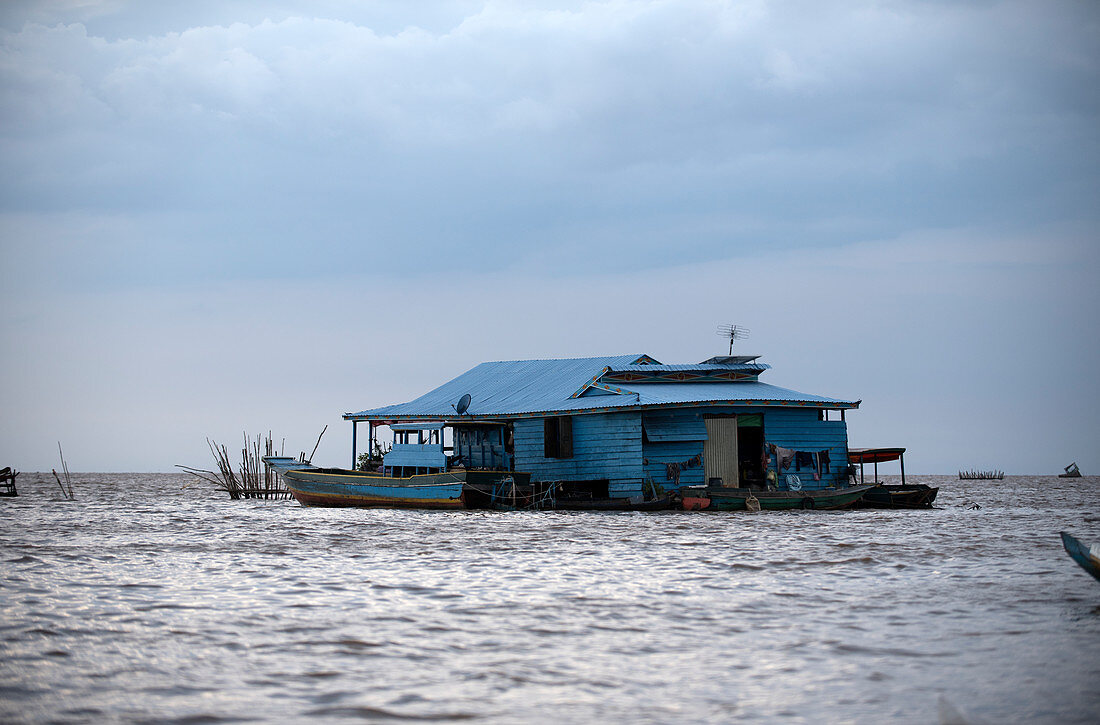
[[[292,458],[266,457],[290,494],[302,506],[384,508],[466,508],[502,479],[522,479],[507,471],[455,469],[410,476],[388,476],[349,469],[322,469]],[[529,476],[528,476],[529,477]]]

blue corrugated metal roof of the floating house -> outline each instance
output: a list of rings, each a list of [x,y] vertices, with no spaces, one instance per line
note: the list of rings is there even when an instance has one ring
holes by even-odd
[[[593,381],[605,370],[622,370],[631,366],[640,356],[614,355],[571,360],[512,360],[482,363],[415,400],[360,413],[349,413],[344,414],[344,417],[455,419],[458,416],[452,406],[465,393],[469,393],[472,398],[468,415],[475,417],[725,402],[857,405],[850,400],[798,393],[756,381],[712,383],[647,383],[638,381],[625,385],[608,386],[605,389],[615,391],[610,395],[590,394],[571,397],[579,387]],[[653,366],[644,365],[641,367],[651,370]],[[662,365],[662,367],[673,366]],[[683,365],[678,367],[697,366]]]

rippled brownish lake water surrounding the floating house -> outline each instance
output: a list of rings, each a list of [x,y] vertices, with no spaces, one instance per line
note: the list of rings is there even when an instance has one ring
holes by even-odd
[[[1100,479],[936,510],[232,502],[183,474],[0,499],[0,721],[1096,723]],[[979,504],[980,508],[971,507]]]

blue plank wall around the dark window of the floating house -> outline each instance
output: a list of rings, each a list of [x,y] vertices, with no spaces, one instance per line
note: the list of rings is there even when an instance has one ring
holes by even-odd
[[[532,481],[608,481],[610,496],[641,493],[641,415],[608,413],[573,416],[572,458],[542,455],[542,418],[513,422],[516,470]]]

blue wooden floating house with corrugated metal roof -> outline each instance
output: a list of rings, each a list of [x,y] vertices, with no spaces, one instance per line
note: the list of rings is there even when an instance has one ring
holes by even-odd
[[[408,403],[343,417],[353,464],[359,424],[372,451],[378,427],[393,430],[383,465],[394,475],[516,471],[597,498],[653,486],[847,486],[845,411],[860,402],[761,382],[769,369],[752,355],[486,362]]]

